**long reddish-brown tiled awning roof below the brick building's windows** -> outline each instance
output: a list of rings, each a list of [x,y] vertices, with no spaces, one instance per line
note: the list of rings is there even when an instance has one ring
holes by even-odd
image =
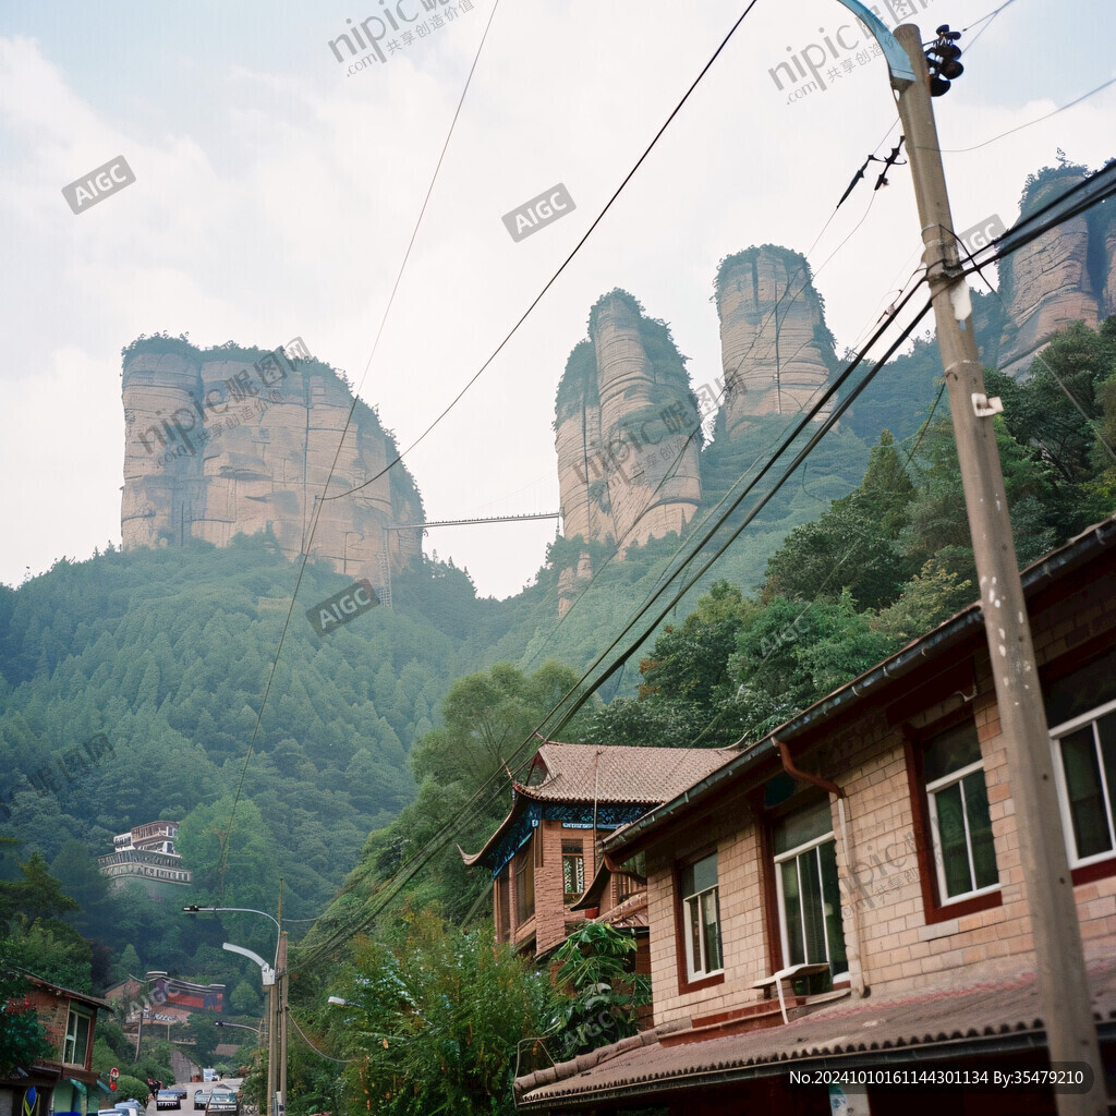
[[[1094,1019],[1116,1030],[1116,964],[1090,970],[1089,984]],[[773,1062],[789,1069],[817,1058],[859,1056],[863,1061],[868,1056],[883,1067],[926,1058],[939,1046],[945,1061],[959,1056],[961,1042],[978,1047],[997,1040],[1002,1046],[1011,1036],[1021,1048],[1041,1049],[1042,1032],[1035,975],[1027,973],[891,1001],[841,1001],[785,1026],[677,1046],[663,1046],[651,1033],[636,1036],[517,1078],[516,1091],[520,1107],[530,1110],[555,1101],[642,1097],[683,1081],[742,1080]],[[648,1038],[652,1041],[644,1045]],[[915,1047],[920,1050],[912,1054]]]

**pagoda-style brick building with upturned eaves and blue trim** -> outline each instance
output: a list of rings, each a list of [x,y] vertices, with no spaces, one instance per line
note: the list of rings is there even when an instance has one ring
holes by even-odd
[[[547,741],[527,777],[512,783],[512,807],[478,853],[461,856],[492,874],[497,941],[545,958],[586,917],[624,904],[631,926],[645,925],[637,867],[602,874],[594,907],[574,904],[597,875],[597,843],[720,767],[729,749],[598,748]],[[642,904],[642,906],[641,906]]]

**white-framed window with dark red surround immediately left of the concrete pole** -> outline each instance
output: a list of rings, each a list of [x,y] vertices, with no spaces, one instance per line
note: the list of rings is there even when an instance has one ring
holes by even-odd
[[[942,905],[1000,886],[977,725],[966,720],[923,744],[923,775]]]

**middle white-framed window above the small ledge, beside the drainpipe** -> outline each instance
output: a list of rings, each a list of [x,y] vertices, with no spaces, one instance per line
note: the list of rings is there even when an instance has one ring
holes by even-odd
[[[829,800],[780,818],[771,837],[783,968],[825,963],[847,977]]]

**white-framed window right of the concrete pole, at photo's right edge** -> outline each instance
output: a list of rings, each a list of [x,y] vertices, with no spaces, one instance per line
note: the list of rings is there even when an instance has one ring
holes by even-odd
[[[1116,652],[1050,687],[1047,716],[1072,868],[1116,855]]]

